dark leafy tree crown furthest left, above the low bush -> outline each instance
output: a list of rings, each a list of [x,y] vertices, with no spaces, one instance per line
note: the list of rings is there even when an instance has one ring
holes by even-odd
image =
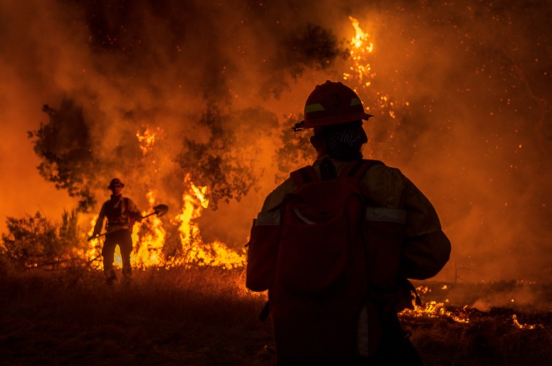
[[[38,170],[57,189],[79,198],[79,210],[88,212],[96,203],[88,181],[97,162],[92,156],[82,108],[63,99],[59,110],[48,105],[42,110],[50,121],[41,123],[39,130],[28,132],[29,138],[34,139],[34,152],[42,159]]]

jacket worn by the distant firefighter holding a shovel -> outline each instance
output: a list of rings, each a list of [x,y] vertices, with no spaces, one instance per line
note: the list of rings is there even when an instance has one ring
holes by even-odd
[[[99,212],[94,234],[101,232],[103,219],[107,218],[107,232],[115,232],[121,229],[132,231],[132,225],[141,218],[140,210],[131,199],[119,196],[111,196],[111,199],[103,203]]]

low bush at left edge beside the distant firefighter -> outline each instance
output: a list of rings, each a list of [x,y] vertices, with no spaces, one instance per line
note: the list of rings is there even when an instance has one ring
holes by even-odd
[[[63,212],[61,224],[37,212],[23,218],[8,216],[6,226],[8,233],[2,234],[3,262],[15,270],[57,268],[80,261],[76,251],[86,247],[77,210]]]

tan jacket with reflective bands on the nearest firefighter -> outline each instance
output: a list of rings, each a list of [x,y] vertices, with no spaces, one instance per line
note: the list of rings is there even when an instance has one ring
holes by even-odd
[[[313,163],[318,178],[321,176],[320,167],[324,159],[329,159],[333,163],[337,176],[341,176],[342,171],[351,166],[350,162],[322,156]],[[407,278],[425,279],[435,276],[449,260],[451,243],[442,232],[433,205],[400,170],[379,162],[368,168],[360,183],[362,195],[366,200],[362,231],[367,243],[370,243],[367,245],[366,291],[370,303],[377,307],[375,312],[380,314],[380,320],[377,322],[386,326],[392,319],[396,320],[396,312],[412,306],[413,287]],[[280,235],[284,198],[296,189],[295,180],[290,178],[271,192],[266,197],[252,230],[246,285],[254,291],[268,289],[269,299],[280,294],[280,286],[272,282],[278,250],[277,245],[270,243],[277,243],[277,239],[274,238]],[[317,254],[313,252],[314,261],[316,257]],[[359,283],[361,282],[365,283],[364,278],[359,279]],[[293,307],[295,304],[290,306]],[[280,321],[280,324],[282,321],[290,323],[286,318],[293,314],[286,314],[282,318],[282,314],[275,316],[273,312],[273,321]],[[305,317],[299,317],[295,323],[291,323],[298,324]],[[368,329],[370,327],[368,325]],[[284,333],[288,330],[293,329],[284,329]],[[288,343],[290,338],[293,338],[290,334],[279,337],[279,332],[282,333],[281,325],[279,329],[275,329],[277,347],[279,340]],[[358,329],[358,332],[360,337],[361,329]],[[318,334],[312,334],[312,338],[316,339]],[[291,335],[293,336],[293,332]],[[301,343],[300,340],[293,342],[298,345]],[[314,344],[306,343],[300,346],[316,347]],[[286,345],[287,353],[279,352],[279,357],[285,356],[288,360],[293,360],[293,357],[303,353],[301,347],[288,352],[290,347]]]

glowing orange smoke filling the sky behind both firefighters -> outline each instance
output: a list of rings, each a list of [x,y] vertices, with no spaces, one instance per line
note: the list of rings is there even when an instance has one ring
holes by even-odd
[[[176,214],[185,172],[174,156],[184,136],[208,138],[196,127],[210,105],[262,108],[283,121],[301,112],[314,85],[345,78],[375,114],[365,155],[400,167],[440,213],[453,242],[442,278],[549,278],[551,9],[475,0],[0,1],[2,212],[58,215],[75,205],[35,169],[26,132],[47,121],[43,104],[77,101],[100,160],[119,154],[128,136],[145,146],[148,129],[162,133],[145,173],[132,160],[149,159],[146,150],[121,156],[128,163],[98,179],[121,176],[144,210],[137,181],[155,187]],[[308,59],[322,53],[304,40],[297,50],[289,40],[308,23],[331,30],[349,57]],[[358,28],[372,43],[361,59],[350,53]],[[268,128],[264,120],[234,123]],[[242,147],[255,140],[238,136]],[[195,218],[209,243],[243,247],[275,184],[274,136],[235,156],[255,159],[259,190]]]

